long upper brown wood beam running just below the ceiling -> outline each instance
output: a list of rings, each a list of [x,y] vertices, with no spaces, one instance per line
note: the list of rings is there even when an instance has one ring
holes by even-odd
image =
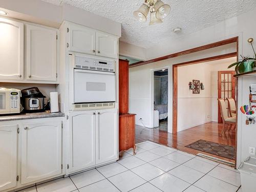
[[[129,68],[138,67],[138,66],[146,65],[148,63],[157,62],[157,61],[160,61],[160,60],[174,58],[174,57],[178,57],[178,56],[181,56],[181,55],[186,55],[186,54],[189,54],[189,53],[195,53],[195,52],[198,52],[198,51],[203,51],[203,50],[206,50],[206,49],[211,49],[211,48],[231,44],[232,42],[238,42],[238,37],[232,37],[232,38],[225,39],[225,40],[222,40],[222,41],[214,42],[212,44],[200,46],[200,47],[193,48],[193,49],[188,49],[188,50],[181,51],[181,52],[178,52],[178,53],[173,53],[173,54],[170,54],[170,55],[165,55],[165,56],[158,57],[158,58],[151,59],[151,60],[147,60],[147,61],[135,62],[135,63],[131,64],[129,66]],[[237,49],[238,49],[238,47],[237,47]]]

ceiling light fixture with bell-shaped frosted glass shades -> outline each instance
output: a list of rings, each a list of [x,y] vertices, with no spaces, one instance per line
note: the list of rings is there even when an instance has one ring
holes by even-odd
[[[145,0],[133,15],[139,22],[146,22],[148,12],[150,12],[150,25],[162,23],[162,19],[170,13],[170,6],[160,0]]]

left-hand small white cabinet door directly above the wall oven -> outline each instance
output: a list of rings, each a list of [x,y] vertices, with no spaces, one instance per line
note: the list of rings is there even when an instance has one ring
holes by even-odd
[[[68,49],[69,51],[95,55],[95,30],[70,24]]]

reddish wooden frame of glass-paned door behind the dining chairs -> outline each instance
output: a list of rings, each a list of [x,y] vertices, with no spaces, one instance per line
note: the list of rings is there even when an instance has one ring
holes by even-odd
[[[232,98],[235,99],[235,95],[236,95],[236,77],[234,77],[234,75],[236,74],[236,71],[218,71],[218,98],[221,98],[221,74],[222,73],[225,73],[225,74],[231,74],[231,83],[232,83],[232,90],[231,90],[231,95],[232,95]],[[229,103],[228,103],[228,108],[229,108]],[[222,123],[222,118],[221,118],[221,114],[220,114],[220,104],[218,103],[218,123]]]

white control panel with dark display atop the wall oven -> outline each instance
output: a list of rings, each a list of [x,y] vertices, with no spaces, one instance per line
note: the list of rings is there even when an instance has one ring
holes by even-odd
[[[74,68],[115,72],[115,61],[75,56],[74,57]]]

